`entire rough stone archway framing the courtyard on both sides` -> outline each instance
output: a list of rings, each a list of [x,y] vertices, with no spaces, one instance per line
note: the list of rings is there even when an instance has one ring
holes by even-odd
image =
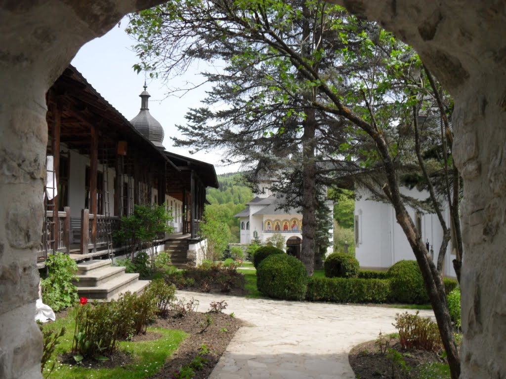
[[[505,377],[506,10],[493,0],[335,0],[414,45],[455,98],[465,181],[462,374]],[[0,377],[40,378],[33,321],[47,144],[45,94],[79,47],[159,0],[0,5]],[[13,296],[15,294],[15,296]]]

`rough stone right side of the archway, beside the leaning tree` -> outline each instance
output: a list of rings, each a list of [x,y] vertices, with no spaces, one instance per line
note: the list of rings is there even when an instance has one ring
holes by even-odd
[[[455,98],[461,206],[461,378],[505,378],[506,3],[341,0],[412,44]]]

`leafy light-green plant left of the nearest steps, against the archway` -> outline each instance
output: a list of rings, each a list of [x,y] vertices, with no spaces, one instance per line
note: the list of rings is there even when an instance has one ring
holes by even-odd
[[[55,312],[77,303],[77,287],[72,283],[77,278],[77,264],[67,254],[56,252],[46,259],[48,276],[40,281],[42,300]]]

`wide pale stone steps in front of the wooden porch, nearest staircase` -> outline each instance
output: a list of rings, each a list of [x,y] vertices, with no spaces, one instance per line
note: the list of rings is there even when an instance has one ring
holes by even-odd
[[[99,301],[116,300],[121,293],[142,293],[149,280],[139,280],[139,274],[125,273],[125,267],[111,265],[110,259],[91,260],[77,264],[79,297]]]

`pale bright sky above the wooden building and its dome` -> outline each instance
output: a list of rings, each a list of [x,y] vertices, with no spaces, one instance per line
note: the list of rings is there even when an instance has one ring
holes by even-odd
[[[116,108],[126,119],[133,119],[140,110],[141,98],[139,94],[143,91],[144,73],[137,74],[132,66],[138,63],[138,59],[131,46],[135,43],[124,31],[128,20],[123,19],[121,27],[117,25],[106,35],[96,38],[82,46],[72,65],[84,76],[88,82]],[[206,69],[205,65],[199,68]],[[186,82],[200,83],[201,76],[198,75],[199,68],[192,68],[184,76],[171,81],[173,87],[184,86]],[[212,69],[209,67],[208,69]],[[178,83],[179,81],[179,83]],[[149,99],[149,112],[163,126],[165,138],[163,146],[168,151],[184,156],[192,157],[213,163],[217,173],[237,171],[239,167],[220,166],[220,152],[200,152],[190,155],[187,149],[176,149],[173,147],[171,136],[178,135],[175,125],[184,125],[184,118],[189,108],[198,108],[200,101],[205,97],[205,90],[209,86],[202,86],[186,93],[183,97],[166,97],[167,88],[159,79],[146,79]]]

